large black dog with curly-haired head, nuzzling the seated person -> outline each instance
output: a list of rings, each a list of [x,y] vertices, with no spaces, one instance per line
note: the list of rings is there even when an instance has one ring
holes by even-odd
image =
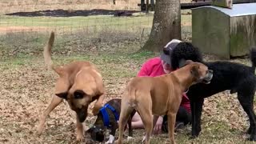
[[[167,53],[165,50],[164,52]],[[210,84],[198,83],[190,86],[190,90],[187,93],[187,96],[190,98],[192,113],[192,138],[198,137],[201,131],[201,115],[204,98],[224,90],[230,90],[230,94],[238,93],[238,101],[250,118],[250,127],[247,130],[247,133],[250,134],[249,140],[256,141],[256,116],[254,114],[256,49],[250,50],[252,66],[226,61],[204,62],[201,52],[190,42],[180,42],[170,52],[171,66],[174,70],[179,67],[180,62],[188,59],[194,62],[202,62],[210,70],[214,70],[214,77]]]

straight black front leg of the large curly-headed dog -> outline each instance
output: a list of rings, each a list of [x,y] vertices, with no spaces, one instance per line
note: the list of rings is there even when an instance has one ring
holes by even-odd
[[[192,137],[198,137],[201,131],[201,115],[202,115],[202,104],[204,99],[193,99],[190,100],[190,106],[192,108]]]

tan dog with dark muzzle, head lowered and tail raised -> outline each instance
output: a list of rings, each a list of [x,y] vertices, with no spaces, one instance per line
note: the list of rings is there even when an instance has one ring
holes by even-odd
[[[93,114],[97,115],[102,106],[105,90],[102,75],[90,62],[71,62],[66,66],[54,66],[51,60],[51,48],[54,43],[54,32],[50,34],[48,44],[44,48],[46,65],[53,69],[59,78],[55,84],[54,96],[50,105],[43,112],[38,125],[38,134],[42,134],[46,117],[63,99],[69,103],[71,110],[77,114],[77,140],[83,138],[82,122],[86,120],[90,102],[97,100]]]

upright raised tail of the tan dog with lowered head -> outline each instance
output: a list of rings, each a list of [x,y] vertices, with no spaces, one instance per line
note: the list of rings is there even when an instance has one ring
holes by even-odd
[[[58,75],[62,75],[63,70],[61,67],[55,67],[54,63],[51,59],[51,49],[54,46],[54,32],[52,31],[50,33],[50,38],[46,44],[46,46],[44,47],[43,50],[43,58],[45,60],[46,66],[48,69],[52,69],[54,70]]]

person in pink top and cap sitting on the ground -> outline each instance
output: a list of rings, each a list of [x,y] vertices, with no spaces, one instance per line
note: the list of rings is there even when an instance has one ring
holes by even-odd
[[[177,39],[173,39],[169,43],[166,44],[165,48],[167,50],[174,50],[175,46],[181,42]],[[156,77],[162,74],[169,74],[171,71],[170,66],[170,55],[166,55],[161,52],[160,57],[150,58],[146,62],[143,63],[141,70],[138,72],[138,77],[149,76]],[[163,132],[167,132],[167,117],[162,116],[158,118],[158,122],[156,126],[154,126],[154,134],[161,134]],[[186,94],[182,95],[182,103],[178,109],[178,113],[176,116],[176,124],[175,128],[181,128],[186,124],[191,122],[191,114],[190,114],[190,100],[187,98]],[[142,119],[138,113],[134,114],[132,118],[132,127],[134,129],[144,128]]]

